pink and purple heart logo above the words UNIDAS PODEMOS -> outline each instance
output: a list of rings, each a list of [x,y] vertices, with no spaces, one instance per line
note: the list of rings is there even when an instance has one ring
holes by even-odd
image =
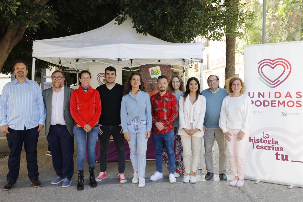
[[[270,88],[275,88],[283,83],[291,72],[291,64],[283,59],[264,59],[258,62],[259,79]]]

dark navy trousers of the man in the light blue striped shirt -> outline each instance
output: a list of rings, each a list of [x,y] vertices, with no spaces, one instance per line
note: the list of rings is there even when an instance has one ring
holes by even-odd
[[[10,149],[8,157],[8,174],[6,175],[7,181],[15,183],[19,176],[20,170],[20,155],[22,151],[22,145],[24,144],[26,164],[29,179],[38,179],[38,160],[37,160],[37,143],[39,132],[37,132],[38,126],[18,131],[8,127],[6,134],[7,144]]]

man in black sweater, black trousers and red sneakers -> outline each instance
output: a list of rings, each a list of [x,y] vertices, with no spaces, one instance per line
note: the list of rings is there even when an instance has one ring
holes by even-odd
[[[100,174],[96,177],[97,182],[107,177],[108,145],[111,135],[118,151],[119,180],[121,183],[126,182],[124,136],[120,121],[123,86],[115,82],[116,78],[116,69],[109,66],[105,69],[106,83],[96,88],[99,91],[102,106],[99,119]]]

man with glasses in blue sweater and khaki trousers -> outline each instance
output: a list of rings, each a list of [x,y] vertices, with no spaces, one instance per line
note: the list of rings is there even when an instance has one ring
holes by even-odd
[[[223,99],[228,96],[224,88],[219,87],[219,78],[210,75],[207,79],[209,88],[201,92],[206,98],[206,112],[204,118],[204,148],[205,164],[207,174],[205,179],[210,180],[214,176],[214,164],[212,161],[212,147],[215,138],[219,147],[219,177],[221,181],[226,181],[226,141],[223,131],[219,127],[220,111]]]

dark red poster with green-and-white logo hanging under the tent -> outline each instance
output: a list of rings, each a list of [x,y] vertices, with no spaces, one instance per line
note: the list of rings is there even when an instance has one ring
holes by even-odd
[[[158,92],[157,78],[159,76],[165,75],[168,81],[171,78],[171,65],[142,65],[140,66],[140,74],[146,92],[152,96]]]

